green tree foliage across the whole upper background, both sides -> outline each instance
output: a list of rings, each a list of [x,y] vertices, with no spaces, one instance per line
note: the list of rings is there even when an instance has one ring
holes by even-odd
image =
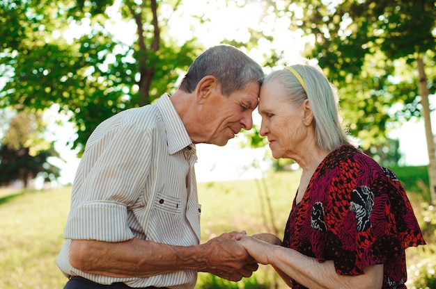
[[[75,123],[72,148],[83,149],[102,120],[175,90],[180,74],[203,50],[196,39],[180,44],[170,37],[168,22],[182,1],[121,1],[115,6],[120,15],[116,24],[132,24],[131,41],[107,28],[116,21],[108,9],[116,3],[0,1],[0,77],[7,80],[0,107],[45,110],[56,104]],[[340,89],[345,122],[364,140],[364,149],[384,142],[390,122],[421,115],[410,64],[423,56],[428,67],[435,66],[432,1],[271,0],[263,6],[265,23],[272,17],[286,19],[290,30],[313,37],[305,55],[317,58]],[[203,15],[194,17],[199,24],[208,22]],[[225,42],[249,51],[260,47],[261,40],[265,49],[279,27],[263,28],[249,27],[247,43]],[[72,33],[75,38],[66,40]],[[281,61],[279,50],[260,52],[265,70]],[[436,73],[427,73],[434,93]],[[398,109],[391,108],[394,104],[400,104]],[[255,146],[263,145],[256,134],[248,137]]]

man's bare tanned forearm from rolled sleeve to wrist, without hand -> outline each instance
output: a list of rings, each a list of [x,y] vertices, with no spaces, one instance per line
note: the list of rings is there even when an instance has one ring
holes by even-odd
[[[201,245],[177,247],[134,238],[126,242],[72,240],[70,263],[82,272],[114,277],[148,277],[178,270],[205,270]]]

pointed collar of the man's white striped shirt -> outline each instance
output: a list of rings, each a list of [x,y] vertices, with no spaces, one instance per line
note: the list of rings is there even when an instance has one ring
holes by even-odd
[[[185,125],[169,98],[169,94],[165,93],[156,101],[157,108],[164,119],[169,153],[174,154],[185,147],[191,147],[190,150],[195,151],[195,146],[189,138]]]

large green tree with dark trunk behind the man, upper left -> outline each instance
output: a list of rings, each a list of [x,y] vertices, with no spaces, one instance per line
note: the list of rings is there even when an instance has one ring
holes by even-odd
[[[102,120],[171,92],[202,50],[195,39],[178,45],[166,33],[179,4],[159,2],[169,12],[164,17],[156,0],[124,0],[118,7],[113,0],[0,1],[0,77],[8,79],[0,107],[45,110],[56,104],[76,124],[72,148],[83,149]],[[116,16],[117,25],[136,29],[131,42],[107,28]],[[65,40],[75,30],[84,32]]]

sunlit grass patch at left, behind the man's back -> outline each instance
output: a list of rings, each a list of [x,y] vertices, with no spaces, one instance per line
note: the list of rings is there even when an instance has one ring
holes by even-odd
[[[70,188],[0,194],[0,288],[63,288],[55,264]]]

